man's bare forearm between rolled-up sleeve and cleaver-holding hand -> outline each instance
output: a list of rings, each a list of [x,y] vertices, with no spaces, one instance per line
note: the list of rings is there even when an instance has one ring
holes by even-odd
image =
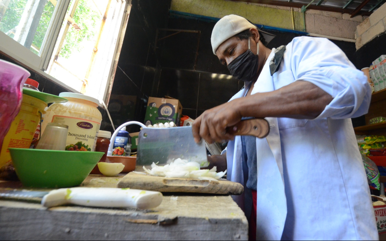
[[[308,81],[233,100],[243,117],[313,119],[332,101],[331,95]]]

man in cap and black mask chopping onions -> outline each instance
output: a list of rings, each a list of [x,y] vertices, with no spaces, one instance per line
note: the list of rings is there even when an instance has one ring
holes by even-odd
[[[244,185],[234,200],[247,217],[256,210],[250,222],[256,218],[256,238],[377,240],[350,120],[367,113],[366,76],[328,39],[296,37],[268,49],[256,26],[237,15],[220,19],[211,41],[245,88],[198,117],[193,136],[197,142],[229,140],[226,154],[212,161],[226,159],[227,179]],[[226,132],[251,117],[269,122],[266,138]]]

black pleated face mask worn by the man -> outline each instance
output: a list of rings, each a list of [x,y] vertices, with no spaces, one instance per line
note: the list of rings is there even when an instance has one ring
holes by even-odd
[[[253,81],[259,68],[259,43],[257,54],[251,51],[251,39],[248,39],[248,50],[228,64],[228,70],[235,78],[248,82]]]

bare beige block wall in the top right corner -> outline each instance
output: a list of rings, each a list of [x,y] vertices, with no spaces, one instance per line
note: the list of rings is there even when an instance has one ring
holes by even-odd
[[[386,31],[386,4],[383,4],[367,19],[357,26],[355,32],[356,48],[360,49],[364,44],[371,41]]]

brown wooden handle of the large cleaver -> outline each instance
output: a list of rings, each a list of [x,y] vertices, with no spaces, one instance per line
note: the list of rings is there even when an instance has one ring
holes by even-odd
[[[235,136],[256,136],[264,138],[269,134],[269,124],[266,119],[247,119],[235,126],[228,127],[227,132]]]

